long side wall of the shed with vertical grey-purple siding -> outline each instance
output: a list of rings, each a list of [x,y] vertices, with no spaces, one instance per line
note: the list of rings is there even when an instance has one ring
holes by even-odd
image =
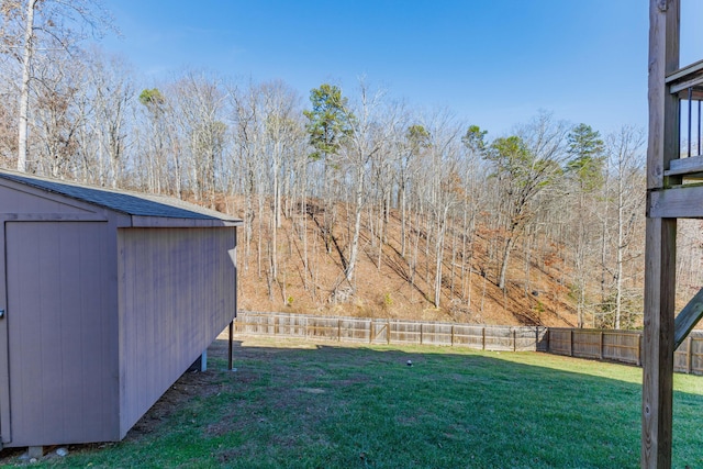
[[[124,436],[235,316],[235,228],[122,228],[118,238]]]

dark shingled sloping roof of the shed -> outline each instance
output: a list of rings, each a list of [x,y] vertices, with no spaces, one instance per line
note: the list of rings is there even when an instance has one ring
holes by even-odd
[[[131,215],[133,226],[242,225],[242,220],[239,219],[170,197],[94,188],[8,170],[0,170],[0,179],[19,182],[49,193],[56,193]],[[159,223],[149,219],[164,220]]]

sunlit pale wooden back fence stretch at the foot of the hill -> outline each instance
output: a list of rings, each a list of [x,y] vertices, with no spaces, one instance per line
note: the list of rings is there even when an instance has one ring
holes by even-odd
[[[235,332],[366,344],[417,344],[481,350],[543,350],[546,327],[239,312]]]

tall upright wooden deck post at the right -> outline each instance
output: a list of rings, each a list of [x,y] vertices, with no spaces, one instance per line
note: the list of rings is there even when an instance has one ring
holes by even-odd
[[[679,158],[679,101],[667,74],[679,68],[679,0],[649,2],[649,137],[643,336],[641,467],[671,467],[677,220],[651,217],[651,196],[671,185]]]

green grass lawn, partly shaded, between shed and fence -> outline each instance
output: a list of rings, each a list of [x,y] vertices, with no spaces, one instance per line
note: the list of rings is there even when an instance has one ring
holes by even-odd
[[[239,337],[119,444],[56,467],[637,468],[639,368],[537,353]],[[413,366],[406,365],[412,360]],[[703,377],[674,378],[673,467],[703,467]],[[4,462],[16,458],[4,458]]]

